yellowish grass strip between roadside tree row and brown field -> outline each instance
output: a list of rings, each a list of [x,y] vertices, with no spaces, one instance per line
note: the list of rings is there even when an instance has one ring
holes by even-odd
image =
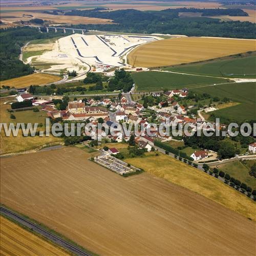
[[[197,194],[256,221],[256,204],[245,195],[230,188],[222,181],[205,174],[201,170],[172,157],[159,154],[159,156],[154,156],[152,153],[147,153],[148,157],[130,158],[125,161],[144,169],[150,174],[188,188]]]

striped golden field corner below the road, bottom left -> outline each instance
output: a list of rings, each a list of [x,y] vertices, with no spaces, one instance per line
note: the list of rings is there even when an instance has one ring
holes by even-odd
[[[1,255],[69,255],[4,217],[0,217]]]

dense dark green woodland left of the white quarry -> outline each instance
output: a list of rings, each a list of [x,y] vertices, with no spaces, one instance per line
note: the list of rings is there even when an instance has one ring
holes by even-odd
[[[36,28],[17,27],[0,30],[0,80],[29,75],[33,69],[19,60],[20,47],[34,39],[60,36],[62,32],[40,33]]]

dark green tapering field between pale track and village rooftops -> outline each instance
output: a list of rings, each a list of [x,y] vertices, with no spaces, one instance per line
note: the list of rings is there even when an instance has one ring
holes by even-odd
[[[136,91],[139,92],[154,92],[162,91],[164,89],[181,89],[184,87],[193,88],[200,85],[227,82],[226,79],[222,78],[182,75],[158,71],[133,73],[132,77],[135,81]]]

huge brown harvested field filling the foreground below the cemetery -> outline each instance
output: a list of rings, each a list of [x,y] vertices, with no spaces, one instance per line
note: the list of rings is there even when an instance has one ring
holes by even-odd
[[[1,203],[105,255],[252,255],[255,223],[150,174],[123,178],[76,147],[1,159]]]

